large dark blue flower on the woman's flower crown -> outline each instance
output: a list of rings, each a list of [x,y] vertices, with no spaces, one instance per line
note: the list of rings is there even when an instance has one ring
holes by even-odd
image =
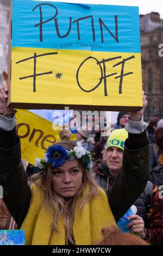
[[[53,167],[58,168],[67,161],[68,153],[61,145],[53,145],[48,148],[46,156],[47,162],[52,164]]]

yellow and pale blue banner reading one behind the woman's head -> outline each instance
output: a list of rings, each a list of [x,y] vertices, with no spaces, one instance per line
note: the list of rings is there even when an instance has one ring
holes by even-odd
[[[56,112],[56,113],[55,113]],[[59,127],[69,124],[73,111],[26,110],[17,109],[17,133],[21,139],[22,159],[35,163],[37,157],[43,157],[48,147],[60,141]],[[71,140],[76,140],[72,134]]]

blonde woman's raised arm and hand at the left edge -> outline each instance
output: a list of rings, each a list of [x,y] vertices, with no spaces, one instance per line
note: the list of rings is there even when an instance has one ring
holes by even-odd
[[[26,217],[31,192],[21,162],[20,139],[16,135],[14,111],[7,109],[7,74],[0,87],[0,185],[3,200],[18,227]]]

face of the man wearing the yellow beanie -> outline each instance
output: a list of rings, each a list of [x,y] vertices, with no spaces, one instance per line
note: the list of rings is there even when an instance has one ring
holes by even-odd
[[[122,167],[123,150],[117,147],[109,147],[106,151],[106,164],[113,177],[116,177]]]

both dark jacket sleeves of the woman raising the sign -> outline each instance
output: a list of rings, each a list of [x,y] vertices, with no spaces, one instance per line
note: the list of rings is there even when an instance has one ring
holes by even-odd
[[[140,146],[140,149],[139,149]],[[111,190],[107,192],[110,208],[118,221],[145,189],[150,178],[150,147],[146,131],[131,135],[125,143],[123,169],[118,173]],[[18,227],[27,215],[32,193],[21,162],[20,139],[15,129],[0,129],[0,185],[3,200]]]

